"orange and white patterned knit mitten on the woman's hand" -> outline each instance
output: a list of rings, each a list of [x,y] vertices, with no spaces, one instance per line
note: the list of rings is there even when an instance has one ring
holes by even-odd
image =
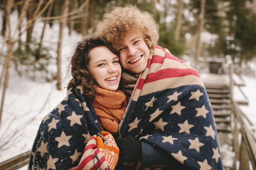
[[[114,170],[119,158],[119,148],[116,145],[114,137],[106,132],[102,131],[102,136],[106,140],[107,144],[105,145],[100,136],[96,137],[97,148],[103,153],[105,159],[109,164],[110,170]]]

